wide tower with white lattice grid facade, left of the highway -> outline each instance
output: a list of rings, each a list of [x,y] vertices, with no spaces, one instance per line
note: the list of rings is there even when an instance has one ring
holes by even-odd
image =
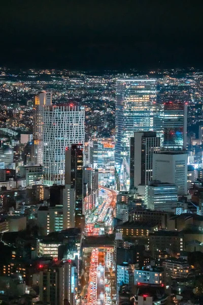
[[[45,106],[43,165],[45,185],[64,185],[65,149],[84,145],[85,112],[78,106]]]

